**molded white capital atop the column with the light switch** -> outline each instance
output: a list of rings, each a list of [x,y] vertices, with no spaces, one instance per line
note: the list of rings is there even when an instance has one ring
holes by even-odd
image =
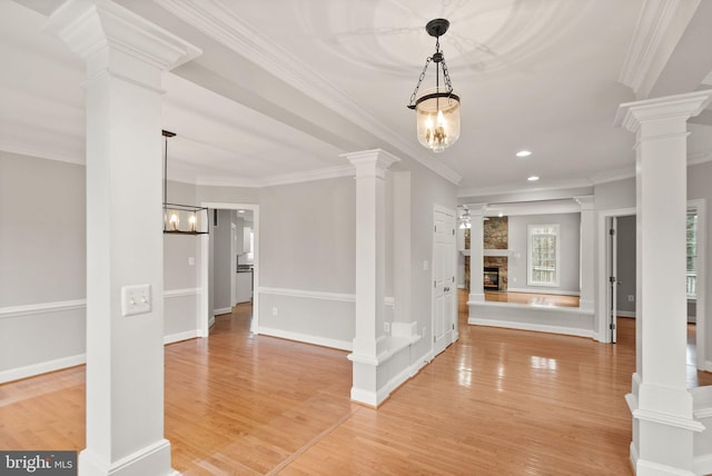
[[[119,50],[160,70],[202,51],[110,0],[69,0],[44,24],[85,60],[103,48]]]

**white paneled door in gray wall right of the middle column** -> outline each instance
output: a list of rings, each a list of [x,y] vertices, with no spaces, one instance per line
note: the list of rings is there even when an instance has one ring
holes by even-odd
[[[433,236],[433,351],[437,355],[455,336],[455,211],[436,207]]]

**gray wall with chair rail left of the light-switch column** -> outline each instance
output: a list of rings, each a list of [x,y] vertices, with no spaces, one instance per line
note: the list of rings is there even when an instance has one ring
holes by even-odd
[[[0,151],[0,381],[81,361],[85,197],[82,166]]]

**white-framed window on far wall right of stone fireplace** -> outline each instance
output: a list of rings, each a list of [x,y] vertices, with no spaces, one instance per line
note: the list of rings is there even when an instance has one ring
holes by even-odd
[[[530,286],[558,286],[558,225],[528,227]]]

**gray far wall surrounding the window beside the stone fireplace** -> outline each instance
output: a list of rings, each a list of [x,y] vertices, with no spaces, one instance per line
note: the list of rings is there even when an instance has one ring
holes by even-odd
[[[581,267],[581,214],[511,216],[508,258],[510,290],[532,292],[578,292]],[[530,225],[557,224],[560,226],[558,286],[527,286],[527,237]]]

